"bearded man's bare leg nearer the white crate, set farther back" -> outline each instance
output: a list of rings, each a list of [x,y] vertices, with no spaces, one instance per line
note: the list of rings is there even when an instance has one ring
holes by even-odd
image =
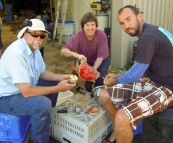
[[[100,92],[99,95],[99,99],[100,99],[100,103],[102,104],[102,106],[104,107],[106,113],[108,114],[108,116],[110,117],[111,121],[112,121],[112,125],[113,125],[113,132],[110,136],[110,141],[115,141],[116,139],[116,134],[115,134],[115,115],[118,111],[118,108],[112,103],[112,100],[109,96],[109,94],[107,93],[106,90],[102,90]]]

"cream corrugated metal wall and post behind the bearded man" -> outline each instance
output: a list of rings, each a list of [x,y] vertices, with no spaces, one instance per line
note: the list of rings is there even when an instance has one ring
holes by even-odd
[[[133,43],[137,38],[127,35],[117,21],[118,10],[125,5],[136,5],[145,22],[161,26],[173,34],[173,0],[112,0],[111,1],[111,65],[122,68],[132,58]]]

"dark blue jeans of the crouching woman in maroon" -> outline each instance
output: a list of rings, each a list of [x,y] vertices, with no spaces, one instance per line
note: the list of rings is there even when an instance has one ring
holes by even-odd
[[[89,64],[90,66],[93,66],[93,64]],[[100,77],[95,81],[94,83],[94,87],[103,85],[103,77],[105,77],[105,75],[108,72],[110,66],[110,61],[109,59],[105,59],[102,64],[100,65],[100,67],[97,69],[98,72],[100,72]],[[92,81],[85,81],[85,89],[88,92],[92,92]]]

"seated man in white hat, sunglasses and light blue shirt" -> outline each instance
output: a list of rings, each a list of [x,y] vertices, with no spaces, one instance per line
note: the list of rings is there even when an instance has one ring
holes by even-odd
[[[30,115],[31,139],[49,142],[52,106],[58,92],[70,90],[70,75],[46,70],[39,48],[47,40],[48,31],[39,19],[31,19],[19,31],[0,59],[0,113]]]

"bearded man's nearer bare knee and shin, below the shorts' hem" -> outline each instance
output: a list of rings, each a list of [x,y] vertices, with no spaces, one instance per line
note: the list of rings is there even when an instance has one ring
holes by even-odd
[[[131,143],[133,130],[127,114],[120,109],[115,117],[116,143]]]

